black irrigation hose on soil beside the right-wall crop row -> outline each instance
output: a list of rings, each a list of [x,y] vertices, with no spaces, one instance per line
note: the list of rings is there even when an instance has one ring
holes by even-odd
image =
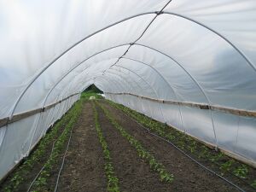
[[[220,177],[220,178],[223,179],[226,183],[229,183],[230,185],[232,185],[232,186],[235,187],[236,189],[240,190],[241,192],[246,192],[244,189],[241,189],[241,188],[238,187],[235,183],[232,183],[232,182],[231,182],[230,180],[228,180],[227,178],[222,177],[222,176],[219,175],[217,172],[214,172],[214,171],[212,171],[211,169],[207,168],[207,166],[202,165],[199,161],[195,160],[195,159],[194,159],[193,157],[191,157],[189,154],[186,154],[182,149],[178,148],[178,147],[177,147],[175,144],[173,144],[172,142],[166,140],[166,139],[163,138],[163,137],[160,137],[160,136],[154,134],[154,133],[151,132],[147,127],[145,127],[144,125],[142,125],[142,124],[140,124],[139,122],[137,122],[136,119],[131,118],[129,115],[127,115],[127,114],[126,114],[125,112],[123,112],[122,110],[119,110],[119,111],[121,111],[122,113],[124,113],[125,116],[128,117],[129,119],[132,119],[133,121],[135,121],[135,122],[136,122],[138,125],[140,125],[144,130],[147,130],[150,135],[153,135],[153,136],[155,136],[155,137],[158,137],[158,138],[160,138],[160,140],[165,141],[166,143],[171,144],[172,147],[176,148],[180,153],[182,153],[182,154],[184,154],[186,157],[188,157],[189,160],[193,160],[197,165],[201,166],[202,168],[204,168],[204,169],[207,170],[208,172],[211,172],[213,175],[216,175],[216,176]]]

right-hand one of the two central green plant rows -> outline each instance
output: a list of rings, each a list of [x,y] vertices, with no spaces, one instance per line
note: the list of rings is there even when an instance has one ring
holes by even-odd
[[[143,148],[143,145],[136,138],[132,137],[127,131],[125,131],[125,129],[119,125],[119,123],[113,118],[113,116],[108,112],[106,108],[104,108],[98,102],[97,104],[100,106],[100,108],[102,108],[112,125],[120,132],[123,137],[128,140],[133,148],[136,148],[139,157],[148,162],[150,168],[153,169],[154,172],[158,172],[160,174],[160,181],[172,183],[174,177],[171,173],[166,171],[165,166],[159,163],[154,158],[154,155],[150,154],[145,148]]]

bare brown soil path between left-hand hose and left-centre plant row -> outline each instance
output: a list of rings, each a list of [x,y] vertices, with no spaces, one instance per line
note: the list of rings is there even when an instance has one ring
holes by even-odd
[[[106,191],[102,148],[96,135],[94,112],[84,104],[68,148],[58,191]]]

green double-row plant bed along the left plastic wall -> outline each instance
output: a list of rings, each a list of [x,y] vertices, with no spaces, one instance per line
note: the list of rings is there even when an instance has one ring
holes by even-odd
[[[4,181],[0,191],[26,191],[32,182],[34,183],[31,187],[36,191],[48,189],[47,179],[50,170],[61,157],[61,150],[67,141],[70,129],[79,117],[81,106],[82,102],[76,102],[73,108],[55,123],[32,154]],[[38,174],[40,170],[42,172]]]

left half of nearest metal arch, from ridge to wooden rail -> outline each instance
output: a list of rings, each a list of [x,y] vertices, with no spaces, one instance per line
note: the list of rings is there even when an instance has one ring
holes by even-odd
[[[22,96],[24,96],[24,94],[26,93],[26,90],[28,90],[28,88],[36,81],[36,79],[38,79],[38,77],[44,73],[44,71],[46,71],[46,69],[48,69],[53,63],[55,63],[55,61],[59,60],[61,58],[62,55],[65,55],[69,50],[73,49],[75,46],[77,46],[78,44],[82,43],[85,39],[90,38],[94,35],[96,35],[99,32],[102,32],[112,26],[116,26],[119,23],[124,22],[125,20],[131,20],[133,18],[142,16],[142,15],[157,15],[157,12],[151,11],[151,12],[145,12],[145,13],[141,13],[141,14],[137,14],[137,15],[131,15],[130,17],[126,17],[125,19],[116,21],[108,26],[103,27],[100,30],[97,30],[96,32],[92,32],[90,33],[90,35],[87,35],[85,38],[80,39],[78,42],[76,42],[75,44],[71,45],[70,47],[68,47],[67,49],[65,49],[60,55],[56,56],[55,59],[53,61],[50,61],[49,64],[47,66],[45,66],[42,70],[40,70],[40,72],[31,80],[31,82],[29,84],[26,85],[26,88],[24,90],[22,90],[20,96],[18,97],[18,99],[15,102],[14,108],[12,109],[12,112],[10,114],[9,119],[12,119],[14,113],[15,113],[15,108],[17,107],[18,103],[20,102],[20,99],[22,98]]]

